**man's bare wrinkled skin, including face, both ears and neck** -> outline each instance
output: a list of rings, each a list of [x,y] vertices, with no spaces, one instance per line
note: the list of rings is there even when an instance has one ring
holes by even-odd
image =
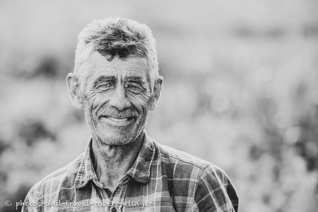
[[[111,191],[136,160],[148,111],[156,108],[160,96],[162,77],[152,87],[146,65],[145,58],[108,61],[93,52],[85,83],[79,84],[73,73],[66,78],[73,105],[84,108],[93,134],[94,170]]]

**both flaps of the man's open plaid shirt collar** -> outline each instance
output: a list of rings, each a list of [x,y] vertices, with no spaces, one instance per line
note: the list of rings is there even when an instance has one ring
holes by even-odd
[[[135,181],[146,184],[150,178],[150,167],[155,156],[155,145],[152,139],[147,135],[146,131],[143,133],[143,143],[140,152],[133,166],[128,170],[125,176],[129,175]],[[84,157],[79,165],[79,170],[75,178],[75,188],[82,188],[91,180],[93,180],[98,187],[103,188],[103,185],[98,181],[93,169],[91,149],[92,138],[90,138],[86,145]],[[122,182],[126,183],[127,181]],[[121,184],[121,182],[119,184]]]

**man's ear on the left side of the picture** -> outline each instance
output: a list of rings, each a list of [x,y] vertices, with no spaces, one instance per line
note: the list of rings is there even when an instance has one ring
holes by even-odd
[[[84,107],[84,103],[80,93],[79,82],[73,73],[67,74],[66,84],[74,107],[82,109]]]

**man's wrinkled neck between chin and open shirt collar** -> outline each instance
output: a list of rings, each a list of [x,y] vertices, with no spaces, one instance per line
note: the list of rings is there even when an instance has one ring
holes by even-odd
[[[112,192],[134,164],[142,147],[144,133],[127,145],[98,145],[93,136],[92,162],[97,178]],[[102,148],[102,149],[100,149]]]

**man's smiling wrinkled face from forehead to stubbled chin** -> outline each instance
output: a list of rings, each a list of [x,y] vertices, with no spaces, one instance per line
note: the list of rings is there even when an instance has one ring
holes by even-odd
[[[91,54],[84,108],[100,144],[127,144],[142,133],[151,97],[146,64],[145,58],[108,61],[98,52]]]

